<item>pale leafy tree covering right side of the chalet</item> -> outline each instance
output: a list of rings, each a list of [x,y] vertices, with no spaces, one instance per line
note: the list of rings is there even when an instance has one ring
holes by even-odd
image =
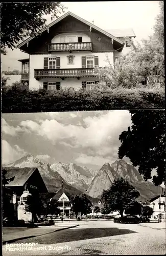
[[[164,19],[163,2],[160,2],[160,14],[156,18],[154,34],[149,39],[141,40],[141,44],[126,37],[131,50],[120,60],[115,61],[114,66],[107,58],[108,66],[96,69],[99,79],[108,88],[133,88],[140,87],[145,79],[154,84],[154,78],[164,84]],[[100,86],[101,82],[99,83]]]

